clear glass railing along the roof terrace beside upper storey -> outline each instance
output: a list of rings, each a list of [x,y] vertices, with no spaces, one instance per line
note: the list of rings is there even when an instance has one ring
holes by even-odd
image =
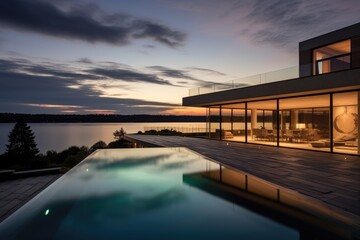
[[[228,82],[214,83],[198,88],[189,89],[189,96],[242,88],[264,83],[278,82],[299,77],[299,66],[284,68],[277,71],[261,73],[249,77],[238,78]]]

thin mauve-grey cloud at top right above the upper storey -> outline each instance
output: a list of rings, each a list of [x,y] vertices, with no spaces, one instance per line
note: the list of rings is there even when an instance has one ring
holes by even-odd
[[[199,16],[203,31],[297,49],[299,41],[360,21],[358,0],[169,0]]]

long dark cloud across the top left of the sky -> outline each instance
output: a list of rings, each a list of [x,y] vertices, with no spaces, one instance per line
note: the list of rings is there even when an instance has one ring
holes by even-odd
[[[122,46],[134,39],[151,39],[169,47],[184,45],[186,34],[168,26],[125,14],[104,13],[94,4],[70,3],[70,9],[64,9],[50,1],[0,1],[0,23],[20,30],[89,43]]]

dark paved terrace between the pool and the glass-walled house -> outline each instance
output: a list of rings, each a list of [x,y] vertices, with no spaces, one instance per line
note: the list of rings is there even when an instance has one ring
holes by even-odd
[[[360,156],[201,138],[127,135],[144,146],[187,147],[360,219]]]

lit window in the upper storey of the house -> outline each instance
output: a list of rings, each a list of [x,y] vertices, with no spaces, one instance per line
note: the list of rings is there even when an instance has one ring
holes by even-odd
[[[345,40],[313,51],[314,75],[349,69],[351,41]]]

